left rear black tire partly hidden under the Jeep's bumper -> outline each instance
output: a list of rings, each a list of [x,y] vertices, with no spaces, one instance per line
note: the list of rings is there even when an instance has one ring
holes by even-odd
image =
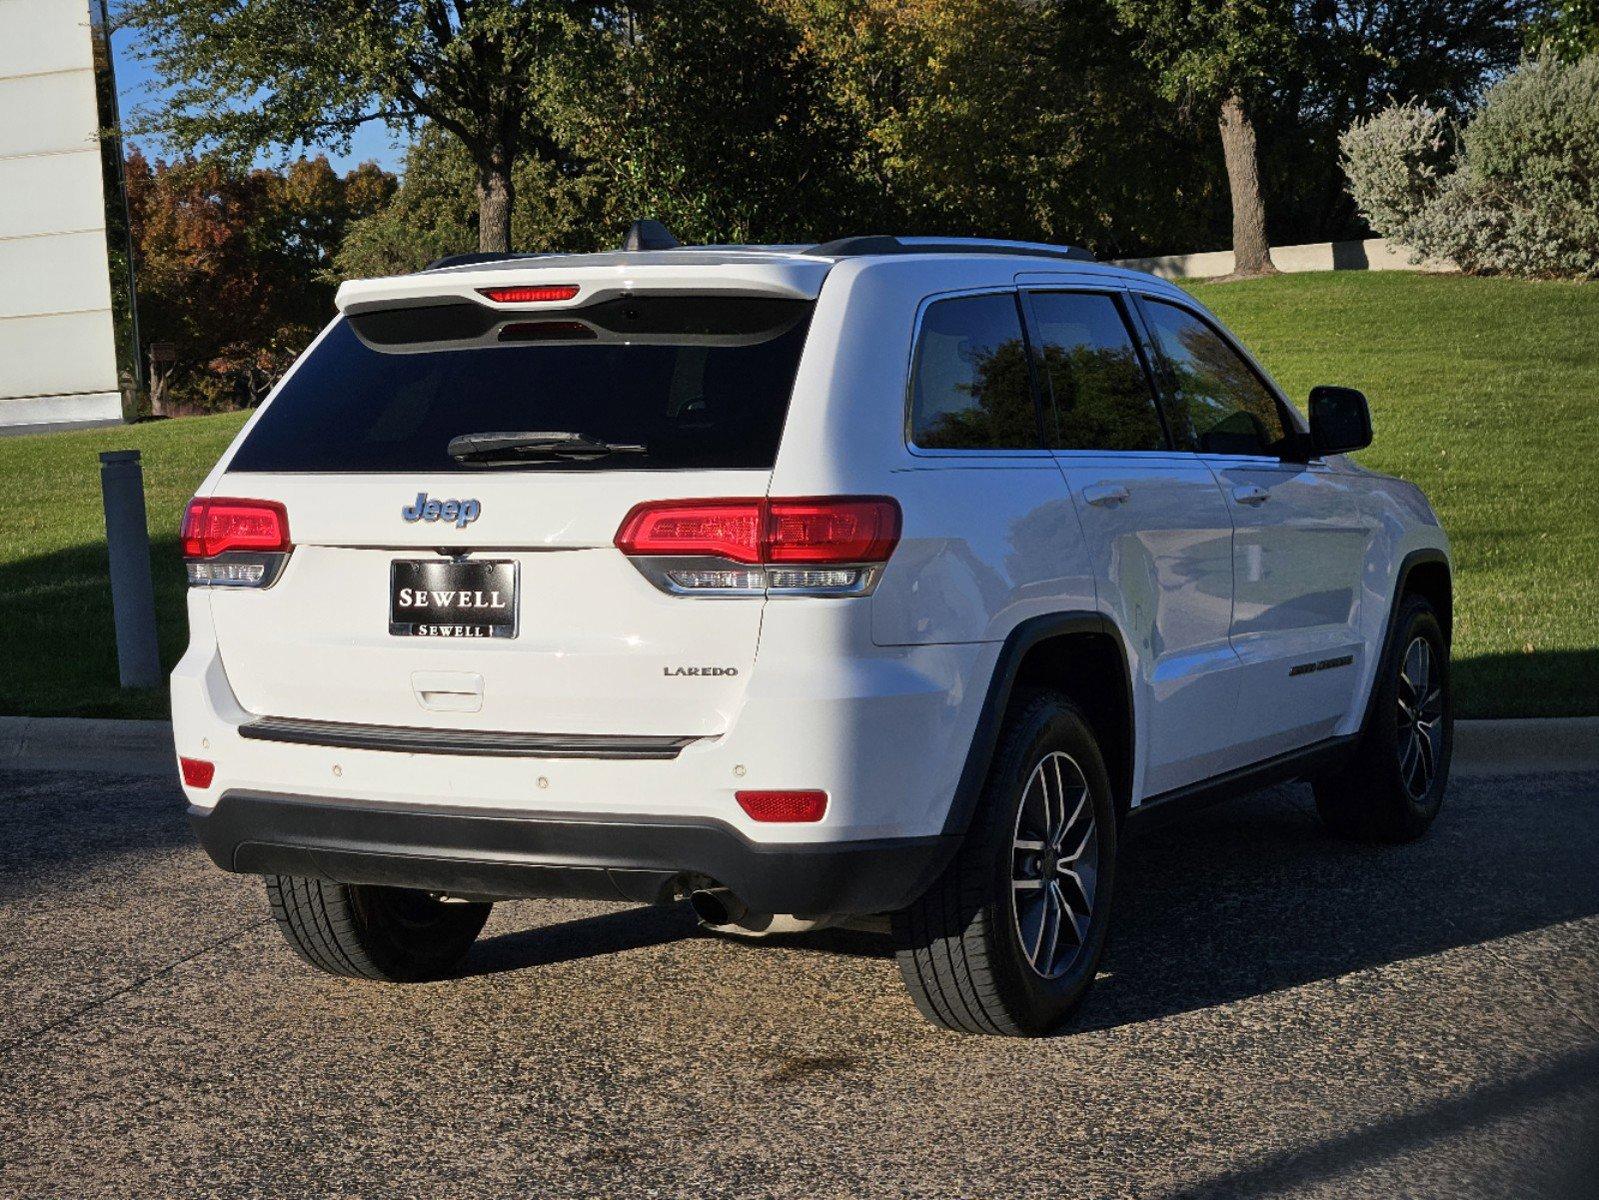
[[[267,899],[283,938],[307,963],[382,982],[453,974],[494,907],[299,875],[267,875]]]

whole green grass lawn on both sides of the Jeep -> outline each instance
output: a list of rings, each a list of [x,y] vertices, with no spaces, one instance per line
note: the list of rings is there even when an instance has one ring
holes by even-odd
[[[1420,483],[1455,547],[1458,710],[1599,714],[1599,286],[1404,272],[1194,285],[1295,400],[1372,400],[1359,459]],[[160,717],[117,688],[101,450],[144,451],[161,659],[177,522],[241,414],[0,438],[0,712]]]

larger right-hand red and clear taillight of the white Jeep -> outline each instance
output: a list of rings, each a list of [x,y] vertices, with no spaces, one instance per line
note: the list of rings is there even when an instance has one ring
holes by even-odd
[[[886,496],[648,501],[616,546],[667,592],[865,595],[899,533]]]

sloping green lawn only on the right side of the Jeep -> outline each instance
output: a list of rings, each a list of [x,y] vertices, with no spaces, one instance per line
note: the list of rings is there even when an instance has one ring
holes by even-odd
[[[1190,288],[1295,403],[1359,387],[1359,462],[1418,483],[1455,554],[1465,717],[1599,714],[1599,286],[1343,272]]]

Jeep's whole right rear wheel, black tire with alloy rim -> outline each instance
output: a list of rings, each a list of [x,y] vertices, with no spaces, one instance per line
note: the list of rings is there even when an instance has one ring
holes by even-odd
[[[1044,835],[1046,805],[1052,835]],[[1075,915],[1070,933],[1057,915],[1052,957],[1047,914],[1060,907],[1047,878]],[[894,914],[900,976],[916,1008],[966,1034],[1059,1029],[1094,982],[1115,882],[1116,806],[1089,723],[1059,693],[1019,694],[959,851],[921,899]]]

